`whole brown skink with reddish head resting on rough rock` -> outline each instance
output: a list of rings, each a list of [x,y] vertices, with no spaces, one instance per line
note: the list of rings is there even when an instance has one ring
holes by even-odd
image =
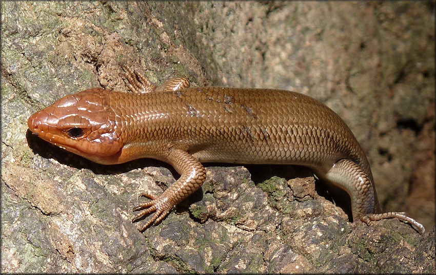
[[[137,205],[133,221],[156,224],[206,179],[202,162],[297,164],[351,198],[353,221],[397,217],[380,213],[369,162],[345,122],[309,96],[275,89],[189,88],[187,78],[155,86],[123,66],[133,93],[94,88],[67,95],[29,117],[42,139],[97,163],[154,158],[181,176],[161,195]]]

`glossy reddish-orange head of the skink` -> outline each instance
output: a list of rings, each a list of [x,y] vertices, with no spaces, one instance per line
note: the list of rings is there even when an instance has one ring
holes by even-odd
[[[101,164],[118,163],[123,139],[108,91],[95,88],[67,95],[31,115],[30,131],[74,154]]]

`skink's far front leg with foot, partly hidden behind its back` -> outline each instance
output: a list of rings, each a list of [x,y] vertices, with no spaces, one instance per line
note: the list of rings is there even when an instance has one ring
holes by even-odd
[[[185,88],[189,88],[190,82],[186,77],[174,77],[161,85],[157,86],[153,84],[147,77],[142,74],[133,71],[125,65],[121,65],[125,72],[122,75],[127,79],[126,86],[130,91],[138,94],[160,92],[160,91],[177,91]]]

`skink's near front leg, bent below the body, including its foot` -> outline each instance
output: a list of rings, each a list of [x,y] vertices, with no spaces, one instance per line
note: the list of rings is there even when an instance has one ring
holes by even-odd
[[[171,164],[181,177],[160,196],[154,197],[147,193],[143,194],[145,197],[150,198],[151,201],[139,204],[133,208],[135,211],[145,209],[133,217],[132,222],[153,211],[154,215],[140,231],[144,231],[152,223],[157,224],[162,221],[175,205],[199,189],[206,180],[206,170],[201,162],[186,151],[169,149],[165,161]]]

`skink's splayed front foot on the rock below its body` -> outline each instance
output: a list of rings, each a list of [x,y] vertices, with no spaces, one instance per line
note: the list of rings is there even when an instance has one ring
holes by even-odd
[[[151,199],[151,201],[141,203],[133,207],[134,211],[143,209],[135,217],[133,217],[132,222],[135,222],[147,214],[154,211],[154,215],[148,220],[148,222],[140,229],[143,232],[151,224],[156,225],[162,221],[169,213],[169,211],[174,207],[174,204],[166,196],[155,197],[148,193],[143,193],[141,196]],[[145,209],[144,209],[145,208]]]

